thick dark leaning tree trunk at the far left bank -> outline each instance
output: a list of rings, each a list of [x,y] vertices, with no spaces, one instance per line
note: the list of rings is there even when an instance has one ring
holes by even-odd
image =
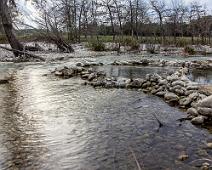
[[[7,4],[7,0],[0,0],[0,17],[4,32],[7,36],[7,40],[10,43],[12,49],[23,51],[23,45],[18,41],[13,32],[12,18]],[[19,53],[14,52],[14,55],[18,57]]]

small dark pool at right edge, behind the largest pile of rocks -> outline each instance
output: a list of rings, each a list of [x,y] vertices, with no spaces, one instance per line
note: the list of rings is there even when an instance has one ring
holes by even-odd
[[[200,84],[212,84],[212,70],[191,70],[190,79]]]

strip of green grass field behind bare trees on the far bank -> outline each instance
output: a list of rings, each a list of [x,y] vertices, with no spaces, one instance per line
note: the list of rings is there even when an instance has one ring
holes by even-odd
[[[28,41],[35,41],[35,40],[44,40],[45,37],[41,36],[39,33],[30,33],[30,34],[18,34],[17,38],[20,41],[28,42]],[[94,36],[88,36],[87,39],[85,36],[81,36],[81,42],[91,42],[94,40]],[[95,37],[96,38],[96,37]],[[64,39],[67,41],[67,33],[64,33]],[[99,42],[106,43],[106,42],[114,42],[113,36],[110,35],[99,35],[98,36]],[[208,39],[207,39],[208,41]],[[161,37],[150,37],[150,36],[143,36],[135,37],[131,36],[116,36],[115,38],[116,43],[120,43],[121,45],[128,45],[131,46],[132,49],[137,49],[138,44],[161,44]],[[0,43],[7,43],[6,36],[0,34]],[[201,38],[194,37],[194,45],[201,44]],[[192,45],[191,37],[177,37],[176,42],[174,37],[167,36],[164,45],[174,45],[177,47],[186,47],[188,45]]]

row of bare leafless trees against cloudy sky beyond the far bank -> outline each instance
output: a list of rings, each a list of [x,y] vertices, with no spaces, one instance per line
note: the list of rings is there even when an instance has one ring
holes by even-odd
[[[34,36],[61,43],[104,37],[104,41],[118,42],[127,36],[140,42],[179,46],[211,44],[212,16],[197,2],[36,0],[34,7],[40,14],[34,19],[37,26],[16,31],[21,38]]]

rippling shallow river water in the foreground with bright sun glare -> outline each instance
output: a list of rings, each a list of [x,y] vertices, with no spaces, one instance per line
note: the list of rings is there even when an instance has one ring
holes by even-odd
[[[182,110],[141,91],[45,75],[57,65],[64,63],[1,64],[14,81],[0,85],[0,169],[131,170],[136,161],[142,169],[199,169],[199,159],[212,160],[211,133],[178,121]],[[144,71],[121,69],[117,76]]]

